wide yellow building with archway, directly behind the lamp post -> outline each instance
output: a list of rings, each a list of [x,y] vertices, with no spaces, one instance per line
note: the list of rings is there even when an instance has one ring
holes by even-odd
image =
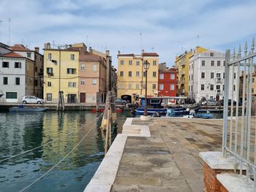
[[[157,96],[159,55],[157,53],[120,54],[118,52],[117,96],[145,95],[146,78],[143,62],[150,63],[148,69],[147,95]]]

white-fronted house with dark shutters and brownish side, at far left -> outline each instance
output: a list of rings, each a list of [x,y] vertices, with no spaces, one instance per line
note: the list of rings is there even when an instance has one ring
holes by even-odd
[[[4,94],[0,101],[21,102],[26,95],[42,96],[42,76],[36,72],[37,66],[41,64],[36,64],[34,56],[32,57],[32,54],[37,53],[23,45],[0,45],[0,93]],[[20,50],[14,47],[19,47]],[[31,53],[30,58],[27,53]]]

